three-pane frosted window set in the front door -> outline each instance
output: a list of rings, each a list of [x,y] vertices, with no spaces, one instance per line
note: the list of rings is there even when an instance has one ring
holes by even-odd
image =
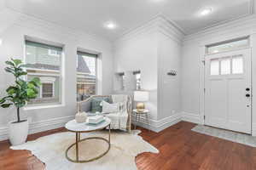
[[[236,75],[243,74],[244,59],[242,55],[234,55],[221,59],[211,59],[210,75]]]

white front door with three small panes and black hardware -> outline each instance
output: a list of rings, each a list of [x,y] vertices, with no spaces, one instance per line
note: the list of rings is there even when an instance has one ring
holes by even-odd
[[[205,124],[251,133],[251,49],[205,60]]]

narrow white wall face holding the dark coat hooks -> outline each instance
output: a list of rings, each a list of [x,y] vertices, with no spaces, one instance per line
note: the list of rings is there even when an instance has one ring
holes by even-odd
[[[181,42],[161,33],[158,47],[158,119],[163,119],[181,112]],[[167,75],[169,71],[177,76]]]

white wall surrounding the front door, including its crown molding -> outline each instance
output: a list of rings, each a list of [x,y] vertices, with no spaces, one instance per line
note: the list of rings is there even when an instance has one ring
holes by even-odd
[[[252,48],[252,88],[256,88],[256,16],[248,16],[185,37],[182,48],[182,111],[183,119],[203,122],[203,84],[201,59],[203,47],[237,37],[250,36]],[[253,135],[256,134],[256,90],[253,90]]]

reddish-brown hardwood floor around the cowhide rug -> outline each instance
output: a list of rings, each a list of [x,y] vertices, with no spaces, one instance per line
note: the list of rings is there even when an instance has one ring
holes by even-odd
[[[140,128],[140,134],[160,150],[160,154],[143,153],[137,156],[140,170],[247,170],[256,169],[256,148],[218,139],[190,129],[194,123],[179,122],[160,133]],[[65,131],[64,128],[36,133],[28,140]],[[44,169],[44,163],[27,150],[10,150],[7,141],[0,142],[0,169]]]

